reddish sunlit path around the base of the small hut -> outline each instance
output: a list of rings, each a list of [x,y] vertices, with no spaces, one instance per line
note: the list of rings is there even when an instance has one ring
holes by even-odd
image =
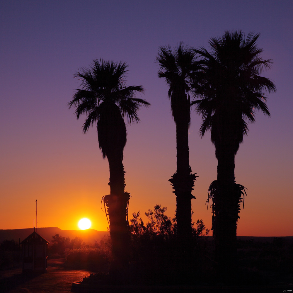
[[[73,282],[81,281],[92,272],[67,270],[64,259],[48,260],[47,273],[38,276],[23,275],[21,269],[1,273],[1,293],[69,293]]]

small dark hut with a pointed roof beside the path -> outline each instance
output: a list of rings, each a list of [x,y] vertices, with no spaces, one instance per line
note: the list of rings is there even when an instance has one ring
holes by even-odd
[[[47,271],[48,243],[35,231],[21,242],[23,273]]]

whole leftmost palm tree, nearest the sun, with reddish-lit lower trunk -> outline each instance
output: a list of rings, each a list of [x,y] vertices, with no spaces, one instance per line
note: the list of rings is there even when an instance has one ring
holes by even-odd
[[[76,107],[76,117],[87,114],[83,132],[97,125],[98,142],[103,159],[107,157],[110,170],[110,195],[103,197],[110,221],[113,258],[118,263],[127,261],[128,202],[130,194],[124,191],[123,149],[126,144],[127,122],[139,122],[137,111],[150,104],[134,98],[143,93],[142,86],[126,86],[126,63],[94,60],[90,69],[81,68],[75,77],[81,80],[69,108]]]

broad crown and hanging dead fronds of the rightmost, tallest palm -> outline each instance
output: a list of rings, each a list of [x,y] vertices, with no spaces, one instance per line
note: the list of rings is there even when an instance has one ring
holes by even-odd
[[[255,111],[270,115],[264,91],[275,91],[268,78],[260,76],[269,68],[271,60],[259,57],[263,51],[256,47],[259,34],[247,37],[238,30],[225,32],[222,38],[209,41],[212,53],[204,47],[194,52],[203,58],[202,69],[195,78],[194,93],[202,97],[192,102],[203,122],[200,133],[211,129],[211,140],[216,146],[228,143],[236,154],[248,127],[245,120],[255,122]]]

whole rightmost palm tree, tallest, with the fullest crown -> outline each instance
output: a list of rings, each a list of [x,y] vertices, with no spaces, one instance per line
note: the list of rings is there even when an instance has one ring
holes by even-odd
[[[256,42],[259,34],[226,31],[222,38],[209,41],[212,52],[204,47],[194,50],[202,56],[197,72],[191,104],[202,114],[200,133],[211,130],[211,140],[218,159],[217,180],[209,188],[212,200],[212,229],[216,245],[216,261],[222,277],[236,272],[236,227],[244,187],[235,183],[234,159],[247,135],[246,121],[255,122],[255,111],[270,116],[264,92],[274,92],[275,85],[260,76],[270,68],[271,60],[260,58],[263,51]]]

